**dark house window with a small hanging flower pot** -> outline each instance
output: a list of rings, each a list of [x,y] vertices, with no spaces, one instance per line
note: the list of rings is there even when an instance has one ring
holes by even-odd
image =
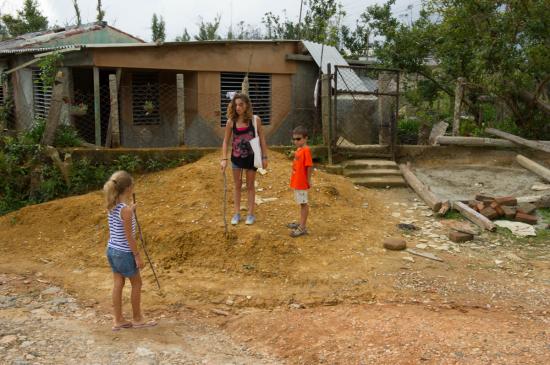
[[[160,83],[158,72],[132,74],[132,114],[134,125],[160,124]]]

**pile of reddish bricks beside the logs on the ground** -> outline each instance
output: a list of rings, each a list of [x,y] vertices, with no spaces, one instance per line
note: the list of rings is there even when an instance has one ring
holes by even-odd
[[[475,200],[470,200],[468,206],[490,220],[508,219],[527,224],[536,224],[537,207],[530,203],[518,204],[512,196],[492,197],[488,195],[476,195]]]

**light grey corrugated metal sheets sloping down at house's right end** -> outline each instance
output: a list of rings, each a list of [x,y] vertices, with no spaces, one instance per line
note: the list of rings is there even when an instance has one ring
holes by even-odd
[[[334,66],[349,66],[340,52],[333,47],[311,41],[302,41],[315,63],[319,65],[323,73],[328,73],[330,63],[334,72]],[[374,91],[351,68],[340,68],[338,71],[338,90],[347,91]]]

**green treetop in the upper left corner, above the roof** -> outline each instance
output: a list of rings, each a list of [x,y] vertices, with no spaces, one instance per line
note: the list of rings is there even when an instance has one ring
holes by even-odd
[[[23,9],[17,11],[17,17],[6,14],[2,21],[11,37],[48,28],[48,19],[38,9],[36,0],[25,0]]]

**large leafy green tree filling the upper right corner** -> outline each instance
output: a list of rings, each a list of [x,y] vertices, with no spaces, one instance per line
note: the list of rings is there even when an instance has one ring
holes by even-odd
[[[474,115],[477,97],[485,94],[505,103],[525,133],[548,124],[547,0],[427,0],[410,25],[391,14],[393,4],[367,9],[381,62],[424,75],[451,96],[457,78],[464,77],[466,105]],[[427,58],[437,61],[435,70],[426,66]]]

